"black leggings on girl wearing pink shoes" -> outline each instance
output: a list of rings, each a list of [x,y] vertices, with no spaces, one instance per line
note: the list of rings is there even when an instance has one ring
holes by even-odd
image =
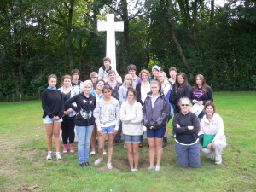
[[[69,143],[73,143],[75,137],[74,118],[64,116],[62,119],[61,130],[63,144],[67,144],[67,139],[69,139]]]

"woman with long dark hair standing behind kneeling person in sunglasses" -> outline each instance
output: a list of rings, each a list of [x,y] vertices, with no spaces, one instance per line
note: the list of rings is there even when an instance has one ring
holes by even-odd
[[[174,113],[180,112],[180,107],[178,105],[179,100],[182,97],[190,97],[191,92],[191,86],[188,83],[187,76],[185,73],[180,72],[177,73],[177,79],[176,79],[176,86],[175,86],[175,96],[174,96]]]

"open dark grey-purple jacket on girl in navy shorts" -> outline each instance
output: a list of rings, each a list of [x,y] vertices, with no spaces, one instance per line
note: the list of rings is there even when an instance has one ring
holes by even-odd
[[[160,93],[160,96],[154,102],[152,108],[151,102],[152,92],[148,93],[148,96],[144,102],[143,108],[143,122],[144,125],[149,129],[150,126],[154,126],[155,129],[165,128],[166,122],[169,117],[169,105],[166,101],[166,96]]]

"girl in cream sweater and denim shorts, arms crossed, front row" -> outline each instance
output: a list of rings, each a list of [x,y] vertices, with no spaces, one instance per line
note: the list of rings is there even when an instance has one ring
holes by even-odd
[[[131,172],[136,172],[139,162],[138,147],[143,134],[142,104],[136,101],[136,90],[128,89],[127,102],[123,102],[120,119],[123,123],[123,134],[128,150],[128,161]]]

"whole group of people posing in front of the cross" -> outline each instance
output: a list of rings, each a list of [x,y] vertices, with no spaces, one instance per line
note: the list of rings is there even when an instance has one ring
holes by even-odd
[[[103,59],[99,72],[90,73],[90,80],[79,81],[79,70],[72,76],[62,77],[57,89],[57,77],[50,75],[49,87],[42,93],[44,126],[47,135],[48,154],[52,159],[52,137],[55,137],[56,159],[61,160],[62,130],[63,153],[74,152],[74,129],[78,137],[79,165],[90,166],[90,154],[96,154],[96,137],[99,157],[94,164],[103,161],[107,154],[104,143],[108,136],[108,169],[112,169],[113,145],[123,143],[127,148],[131,172],[138,170],[138,148],[143,147],[146,130],[149,147],[149,170],[161,169],[163,147],[167,145],[167,123],[172,119],[177,164],[182,167],[201,166],[200,150],[207,158],[222,163],[222,151],[226,146],[224,124],[216,113],[212,89],[203,75],[195,77],[191,88],[185,73],[169,70],[170,79],[160,67],[152,67],[153,76],[143,69],[136,75],[136,66],[127,67],[124,82],[111,67],[108,57]],[[192,105],[204,109],[195,114]],[[204,136],[213,135],[212,141],[203,146]],[[69,146],[68,143],[69,142]],[[91,148],[91,151],[90,151]],[[156,164],[154,163],[156,154]]]

